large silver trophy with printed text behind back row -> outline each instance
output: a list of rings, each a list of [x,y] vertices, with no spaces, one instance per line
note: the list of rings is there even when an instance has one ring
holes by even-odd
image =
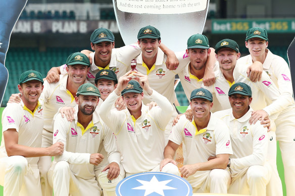
[[[152,25],[174,51],[186,49],[189,36],[203,32],[209,0],[113,0],[124,43],[137,42],[140,28]]]

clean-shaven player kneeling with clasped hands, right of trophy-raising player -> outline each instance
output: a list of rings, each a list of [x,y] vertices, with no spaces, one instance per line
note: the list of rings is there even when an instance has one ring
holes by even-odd
[[[163,171],[170,164],[167,172],[178,172],[173,157],[183,142],[186,154],[180,172],[191,184],[193,192],[227,193],[230,184],[227,164],[232,154],[229,130],[224,122],[212,115],[212,106],[212,94],[208,90],[191,92],[193,120],[190,122],[184,115],[180,116],[169,136],[160,169]],[[217,158],[209,160],[211,156]]]

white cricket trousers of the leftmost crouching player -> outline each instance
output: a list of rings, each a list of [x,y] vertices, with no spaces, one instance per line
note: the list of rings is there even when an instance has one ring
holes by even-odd
[[[0,184],[4,196],[42,195],[37,164],[28,164],[23,156],[0,158]]]

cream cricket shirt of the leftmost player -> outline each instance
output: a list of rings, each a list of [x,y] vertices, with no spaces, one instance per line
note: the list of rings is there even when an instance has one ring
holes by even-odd
[[[40,148],[42,143],[43,107],[38,102],[34,112],[24,103],[8,103],[2,113],[2,132],[15,128],[18,132],[18,144]],[[4,137],[0,146],[0,157],[7,157]],[[26,158],[29,164],[36,164],[39,157]]]

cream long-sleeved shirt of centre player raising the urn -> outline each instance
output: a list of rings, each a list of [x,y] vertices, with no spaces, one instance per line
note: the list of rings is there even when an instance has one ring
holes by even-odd
[[[127,173],[139,173],[155,168],[163,160],[165,148],[165,127],[172,115],[173,107],[161,94],[153,90],[151,98],[159,106],[141,105],[141,116],[135,119],[128,109],[112,109],[119,96],[112,92],[103,102],[99,114],[114,131],[119,149],[122,151],[122,165]]]

